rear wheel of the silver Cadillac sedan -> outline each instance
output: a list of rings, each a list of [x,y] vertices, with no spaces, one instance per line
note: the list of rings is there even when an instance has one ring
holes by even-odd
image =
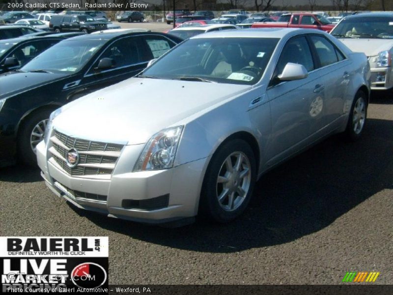
[[[352,102],[348,123],[343,133],[347,141],[357,141],[365,129],[367,118],[367,98],[365,92],[358,90]]]

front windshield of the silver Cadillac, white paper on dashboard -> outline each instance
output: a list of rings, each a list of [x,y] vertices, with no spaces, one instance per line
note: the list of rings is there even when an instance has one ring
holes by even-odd
[[[277,38],[196,38],[175,47],[142,76],[226,84],[257,83]]]

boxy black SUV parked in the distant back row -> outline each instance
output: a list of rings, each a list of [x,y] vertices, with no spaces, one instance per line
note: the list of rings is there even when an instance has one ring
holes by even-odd
[[[97,30],[107,29],[107,24],[96,21],[88,15],[53,15],[49,23],[49,29],[55,32],[85,32],[91,33]]]

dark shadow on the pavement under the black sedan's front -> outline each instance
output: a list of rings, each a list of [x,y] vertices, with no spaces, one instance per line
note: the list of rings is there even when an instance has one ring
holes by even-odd
[[[42,181],[42,177],[38,167],[17,164],[0,168],[0,181],[28,183]]]

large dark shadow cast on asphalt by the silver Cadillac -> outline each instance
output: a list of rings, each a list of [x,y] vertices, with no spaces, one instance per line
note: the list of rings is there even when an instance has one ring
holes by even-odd
[[[236,252],[320,231],[375,193],[392,188],[393,121],[369,119],[363,138],[333,136],[265,174],[245,214],[226,225],[161,228],[74,210],[101,228],[198,252]]]

